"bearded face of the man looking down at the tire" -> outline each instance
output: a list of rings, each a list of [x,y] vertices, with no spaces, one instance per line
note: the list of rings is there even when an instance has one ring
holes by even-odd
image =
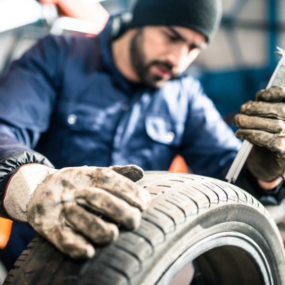
[[[160,87],[179,76],[206,47],[206,38],[178,26],[147,26],[131,40],[131,61],[142,83]]]

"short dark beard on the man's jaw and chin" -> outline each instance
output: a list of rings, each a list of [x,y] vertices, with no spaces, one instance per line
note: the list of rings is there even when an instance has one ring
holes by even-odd
[[[169,62],[162,60],[152,60],[148,63],[146,62],[146,56],[143,50],[143,28],[140,29],[131,40],[130,55],[134,71],[137,73],[141,82],[147,86],[159,88],[166,81],[178,76],[178,74],[174,73],[173,65]],[[153,66],[156,66],[162,69],[164,72],[169,73],[170,78],[166,80],[158,74],[153,74],[151,72],[151,68]]]

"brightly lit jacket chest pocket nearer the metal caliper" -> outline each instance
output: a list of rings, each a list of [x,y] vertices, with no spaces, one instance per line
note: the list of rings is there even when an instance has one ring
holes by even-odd
[[[145,119],[145,130],[151,140],[178,147],[182,143],[184,124],[171,122],[161,116],[148,115]]]

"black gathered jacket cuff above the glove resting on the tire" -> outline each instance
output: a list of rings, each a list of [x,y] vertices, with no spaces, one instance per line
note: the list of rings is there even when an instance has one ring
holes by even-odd
[[[32,152],[32,151],[22,151],[15,152],[8,156],[5,156],[0,160],[0,216],[3,218],[9,217],[3,206],[3,198],[6,190],[6,185],[13,175],[13,173],[22,165],[38,163],[44,164],[48,167],[52,167],[53,165],[49,162],[49,160],[40,153]]]

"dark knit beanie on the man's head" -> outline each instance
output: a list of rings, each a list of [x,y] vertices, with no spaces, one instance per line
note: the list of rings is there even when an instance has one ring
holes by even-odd
[[[182,26],[211,42],[221,16],[221,0],[137,0],[131,27]]]

